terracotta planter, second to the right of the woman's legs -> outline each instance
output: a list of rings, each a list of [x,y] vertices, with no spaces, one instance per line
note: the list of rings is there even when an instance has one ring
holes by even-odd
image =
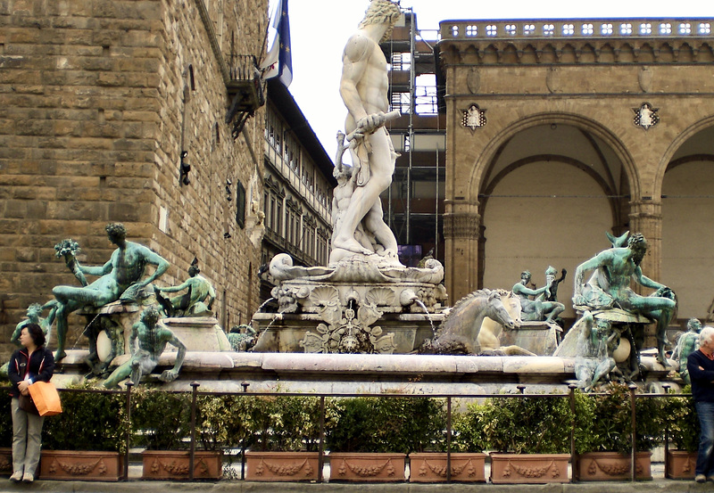
[[[187,480],[190,465],[188,450],[145,450],[141,455],[143,480]],[[196,450],[195,480],[220,480],[223,475],[223,453]]]

